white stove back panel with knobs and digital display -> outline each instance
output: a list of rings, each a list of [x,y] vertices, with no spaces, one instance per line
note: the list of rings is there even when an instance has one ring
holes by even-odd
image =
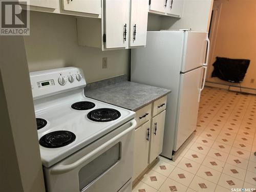
[[[33,99],[86,87],[79,68],[67,67],[30,73]]]

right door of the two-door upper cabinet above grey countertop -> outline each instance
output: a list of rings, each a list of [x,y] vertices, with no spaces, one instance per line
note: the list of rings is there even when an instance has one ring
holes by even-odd
[[[131,1],[130,47],[146,45],[148,0]]]

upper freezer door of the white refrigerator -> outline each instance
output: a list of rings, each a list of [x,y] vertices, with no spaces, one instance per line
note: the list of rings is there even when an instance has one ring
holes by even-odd
[[[206,35],[202,32],[186,32],[182,72],[202,66],[205,60]]]

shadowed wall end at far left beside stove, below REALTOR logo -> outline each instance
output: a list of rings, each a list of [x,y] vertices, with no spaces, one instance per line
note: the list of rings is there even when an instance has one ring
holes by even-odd
[[[22,36],[0,36],[0,191],[45,191]]]

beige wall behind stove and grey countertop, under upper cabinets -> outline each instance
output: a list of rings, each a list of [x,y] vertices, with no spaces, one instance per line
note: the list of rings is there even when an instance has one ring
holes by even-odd
[[[74,16],[31,12],[30,27],[25,37],[30,72],[75,66],[83,69],[87,82],[130,76],[130,50],[103,52],[78,46]],[[108,69],[102,69],[102,57],[108,57]]]

